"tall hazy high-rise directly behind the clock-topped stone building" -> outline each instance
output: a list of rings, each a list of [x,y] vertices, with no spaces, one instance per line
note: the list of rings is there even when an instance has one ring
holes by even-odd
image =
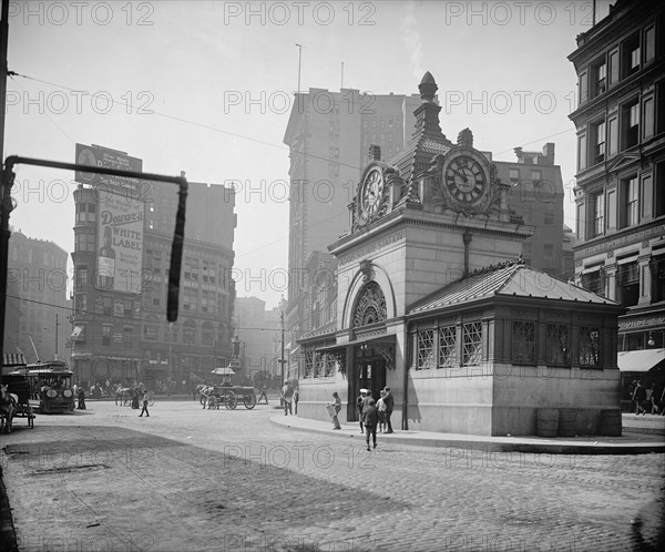
[[[309,327],[304,305],[305,266],[314,252],[348,227],[348,204],[370,144],[387,157],[403,150],[413,132],[417,95],[365,94],[309,89],[296,94],[284,143],[290,149],[287,348]],[[297,362],[294,362],[295,367]]]

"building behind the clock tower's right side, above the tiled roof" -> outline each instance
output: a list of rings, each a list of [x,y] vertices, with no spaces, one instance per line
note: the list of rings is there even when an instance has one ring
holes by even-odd
[[[524,263],[557,278],[566,278],[563,259],[563,180],[554,164],[554,144],[542,152],[515,149],[516,161],[494,161],[497,176],[510,182],[509,207],[534,227],[522,242]]]

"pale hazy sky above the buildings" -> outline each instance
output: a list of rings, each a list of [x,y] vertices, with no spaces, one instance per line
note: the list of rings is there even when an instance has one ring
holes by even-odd
[[[596,20],[607,9],[598,0]],[[74,162],[76,143],[98,144],[146,172],[236,186],[237,296],[270,309],[287,287],[275,275],[298,84],[412,94],[430,71],[450,140],[470,127],[495,161],[556,145],[574,228],[566,58],[591,25],[591,1],[12,1],[4,157]],[[71,253],[74,190],[69,172],[17,166],[10,224]]]

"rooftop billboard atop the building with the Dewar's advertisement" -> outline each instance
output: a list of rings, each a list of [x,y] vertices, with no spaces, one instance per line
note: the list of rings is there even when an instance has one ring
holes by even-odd
[[[103,166],[106,168],[120,168],[140,173],[143,171],[143,161],[131,157],[124,152],[101,147],[99,145],[76,144],[76,163],[90,166]],[[85,173],[76,171],[74,181],[88,184],[102,192],[108,191],[116,194],[127,194],[135,198],[146,198],[150,182],[139,178],[126,178],[124,176],[110,176],[105,174]],[[102,198],[105,194],[101,195]]]

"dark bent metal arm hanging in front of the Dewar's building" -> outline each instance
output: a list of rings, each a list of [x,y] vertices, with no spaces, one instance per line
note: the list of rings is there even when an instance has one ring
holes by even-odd
[[[175,231],[173,244],[171,245],[171,266],[168,269],[168,292],[166,299],[166,320],[177,320],[177,303],[180,293],[180,273],[183,260],[183,245],[185,241],[185,205],[187,201],[187,180],[184,176],[166,176],[152,173],[136,173],[120,168],[106,168],[103,166],[79,165],[76,163],[61,163],[58,161],[38,160],[10,155],[4,161],[2,172],[2,197],[0,200],[0,365],[2,364],[2,346],[4,341],[4,311],[7,307],[7,275],[9,264],[9,214],[13,211],[11,188],[14,182],[13,166],[17,164],[48,166],[65,171],[80,171],[84,173],[106,174],[110,176],[124,176],[127,178],[140,178],[144,181],[171,182],[177,184],[178,202],[175,214]]]

